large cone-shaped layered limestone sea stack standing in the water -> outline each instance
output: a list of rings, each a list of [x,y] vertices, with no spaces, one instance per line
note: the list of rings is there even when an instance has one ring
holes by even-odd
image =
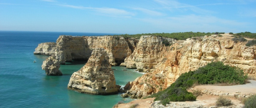
[[[96,48],[88,62],[69,80],[68,88],[85,94],[117,94],[116,79],[109,63],[109,57],[103,48]]]

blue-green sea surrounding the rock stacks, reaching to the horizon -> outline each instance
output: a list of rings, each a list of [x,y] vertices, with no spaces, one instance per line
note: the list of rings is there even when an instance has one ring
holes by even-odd
[[[69,78],[84,66],[82,61],[61,65],[63,76],[46,75],[41,65],[48,56],[34,55],[33,51],[39,43],[56,42],[60,35],[113,34],[0,31],[0,108],[112,108],[118,101],[131,101],[120,94],[88,95],[68,90]],[[112,68],[116,84],[122,86],[142,76],[142,73],[125,67]]]

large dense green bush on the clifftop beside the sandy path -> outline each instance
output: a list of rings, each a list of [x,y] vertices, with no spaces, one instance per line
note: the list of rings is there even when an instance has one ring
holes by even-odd
[[[156,97],[154,101],[161,100],[163,105],[170,101],[196,100],[187,89],[193,84],[232,83],[245,84],[247,75],[236,67],[224,65],[222,62],[211,62],[195,71],[183,73],[170,87],[148,97]]]

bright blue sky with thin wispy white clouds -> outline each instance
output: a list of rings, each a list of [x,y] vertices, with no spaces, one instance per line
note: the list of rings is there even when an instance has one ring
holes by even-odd
[[[0,30],[256,33],[256,0],[0,0]]]

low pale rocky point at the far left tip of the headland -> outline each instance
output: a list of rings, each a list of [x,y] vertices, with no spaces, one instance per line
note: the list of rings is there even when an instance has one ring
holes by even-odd
[[[37,48],[35,48],[34,54],[39,55],[54,55],[56,50],[55,42],[46,42],[38,44]]]

